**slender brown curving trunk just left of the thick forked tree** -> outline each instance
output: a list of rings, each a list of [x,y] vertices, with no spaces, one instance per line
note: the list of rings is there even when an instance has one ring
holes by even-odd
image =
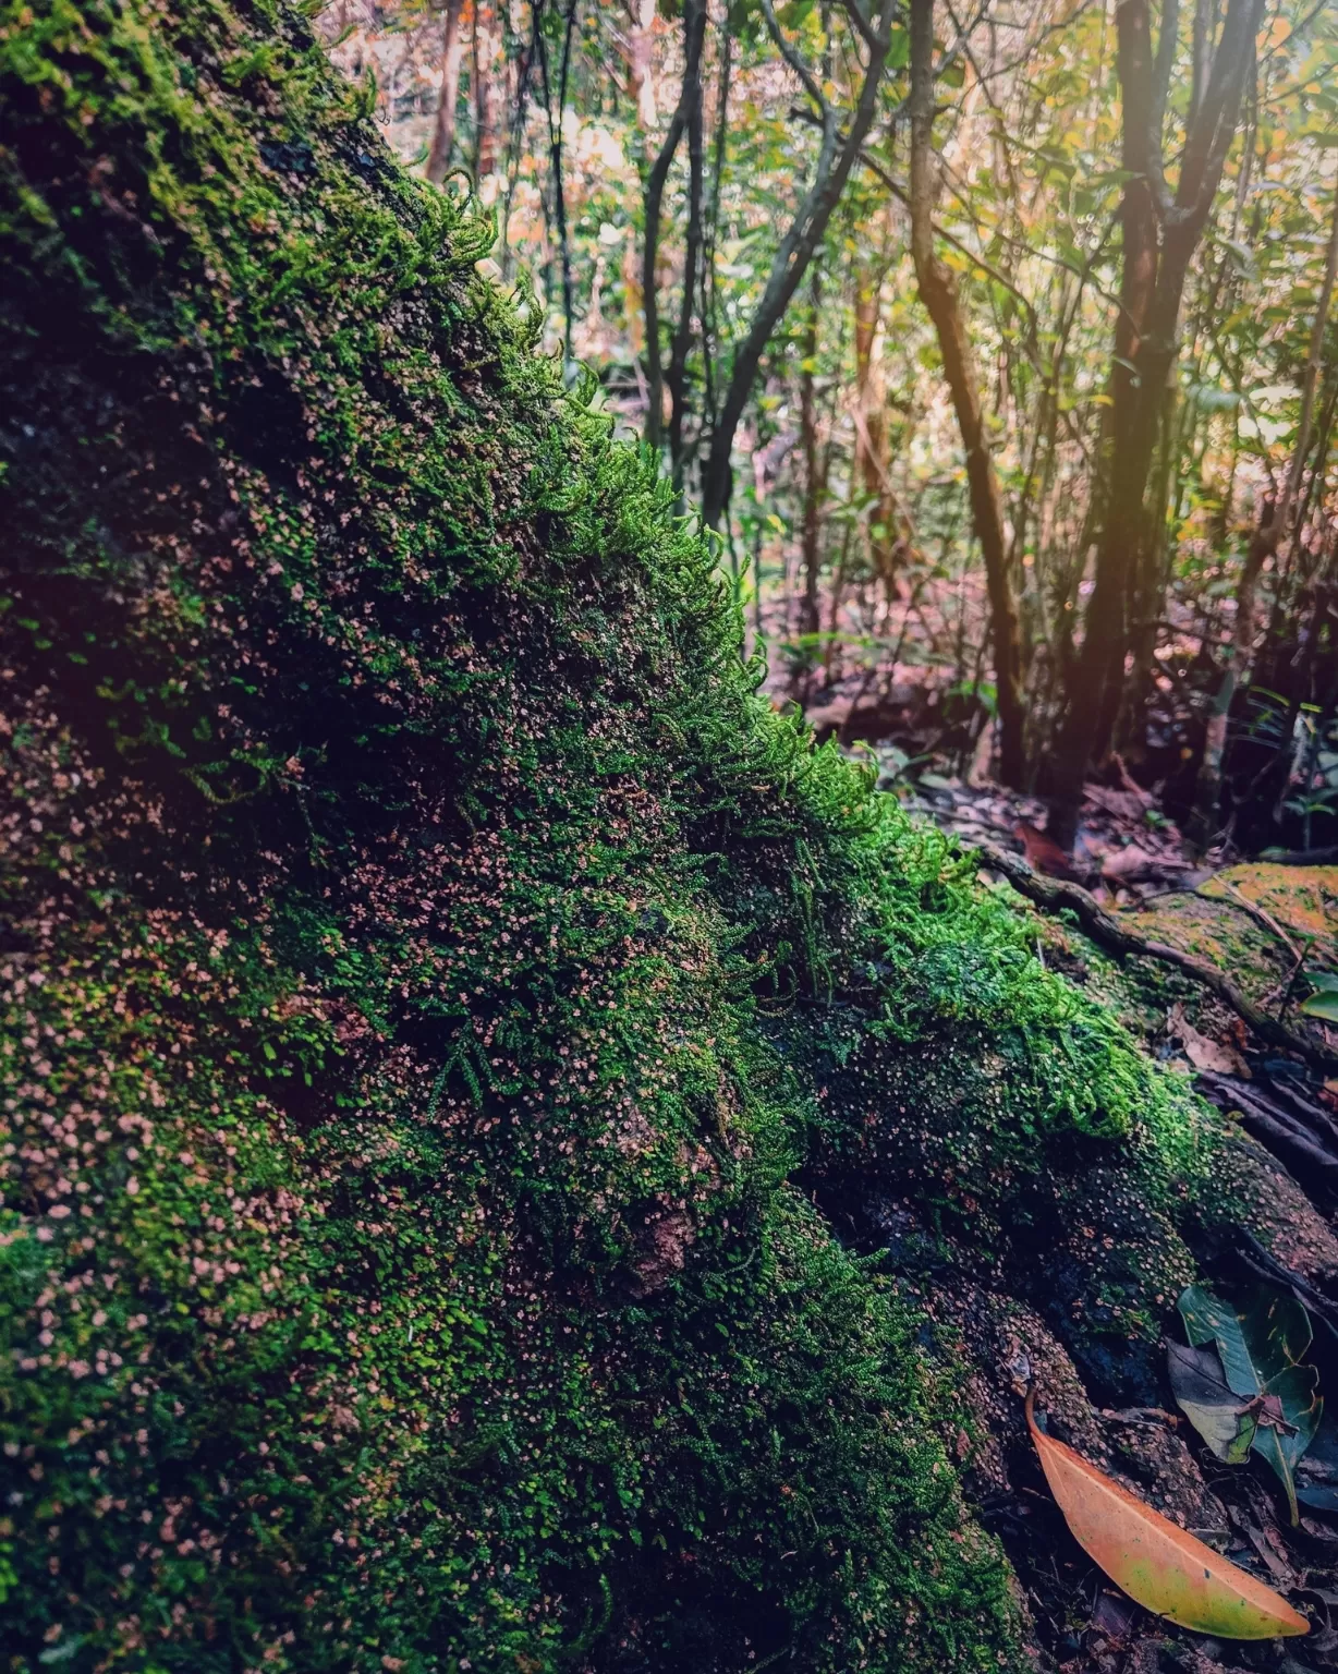
[[[971,521],[985,559],[990,594],[990,634],[995,650],[998,693],[1000,777],[1022,788],[1027,775],[1027,715],[1022,695],[1022,633],[1013,583],[1008,573],[1008,539],[1003,527],[1003,494],[985,430],[980,373],[956,281],[934,253],[934,0],[911,0],[911,254],[919,296],[938,335],[943,372],[953,397]]]

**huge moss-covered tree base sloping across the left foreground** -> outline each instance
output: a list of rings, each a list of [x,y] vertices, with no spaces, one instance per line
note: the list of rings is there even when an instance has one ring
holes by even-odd
[[[8,1666],[1028,1666],[1016,1351],[1100,1446],[1338,1249],[772,713],[491,239],[291,10],[3,7]]]

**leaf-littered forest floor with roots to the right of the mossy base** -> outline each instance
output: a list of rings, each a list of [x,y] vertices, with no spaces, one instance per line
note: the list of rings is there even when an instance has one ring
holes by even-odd
[[[1157,958],[1122,958],[1085,934],[1062,901],[1037,906],[1033,897],[1042,958],[1109,999],[1152,1056],[1191,1076],[1234,1117],[1338,1230],[1338,1030],[1301,1011],[1310,978],[1338,971],[1338,865],[1243,859],[1229,842],[1196,855],[1157,788],[1137,783],[1119,758],[1107,782],[1087,785],[1078,839],[1067,855],[1045,835],[1045,802],[988,777],[990,730],[976,730],[971,740],[970,725],[953,725],[944,710],[948,681],[899,673],[881,678],[877,693],[857,675],[826,688],[811,675],[805,713],[814,732],[872,760],[881,788],[951,832],[963,849],[1011,852],[1042,879],[1087,891],[1122,931],[1229,974],[1259,1013],[1318,1055],[1333,1056],[1326,1068],[1261,1041],[1239,1011],[1192,974]],[[777,701],[792,701],[795,685],[802,691],[792,670],[775,671]],[[980,877],[1008,887],[1008,877],[988,864]],[[1320,1388],[1338,1388],[1333,1302],[1293,1286],[1293,1276],[1258,1245],[1224,1249],[1214,1267],[1216,1281],[1227,1291],[1236,1284],[1239,1294],[1259,1282],[1291,1289],[1311,1317]],[[1258,1458],[1246,1468],[1217,1463],[1174,1403],[1107,1406],[1092,1415],[1135,1492],[1179,1502],[1181,1520],[1199,1538],[1266,1585],[1305,1600],[1315,1619],[1305,1641],[1248,1644],[1172,1634],[1109,1584],[1072,1540],[1047,1492],[1025,1481],[1016,1487],[1016,1473],[1013,1481],[1001,1476],[993,1493],[983,1487],[981,1513],[1008,1547],[1042,1642],[1062,1674],[1338,1669],[1338,1401],[1331,1406],[1303,1460],[1294,1528],[1276,1480]],[[1197,1471],[1177,1466],[1189,1456]]]

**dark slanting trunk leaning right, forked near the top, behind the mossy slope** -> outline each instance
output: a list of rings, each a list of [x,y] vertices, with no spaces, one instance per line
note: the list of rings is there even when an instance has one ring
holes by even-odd
[[[764,0],[764,10],[767,12],[767,22],[772,28],[774,39],[779,39],[779,28],[775,27],[775,13],[772,12],[770,0]],[[715,430],[712,432],[710,452],[702,472],[702,521],[710,529],[720,527],[720,519],[723,517],[725,506],[728,504],[730,489],[733,485],[733,470],[730,464],[733,437],[738,429],[738,422],[744,417],[749,397],[752,395],[752,387],[757,382],[762,355],[765,353],[772,331],[779,325],[780,316],[785,313],[790,298],[799,288],[817,246],[822,243],[827,223],[841,201],[846,181],[851,176],[856,157],[861,152],[861,147],[869,136],[869,129],[872,127],[874,116],[877,114],[877,89],[883,80],[883,69],[888,62],[888,50],[891,47],[894,10],[896,0],[881,0],[876,22],[872,25],[866,25],[866,28],[869,28],[869,59],[864,67],[864,82],[861,85],[859,100],[844,141],[841,139],[837,129],[836,112],[826,102],[826,97],[821,94],[821,89],[816,87],[809,72],[804,72],[802,79],[805,79],[805,85],[812,89],[811,97],[819,107],[822,119],[822,149],[819,152],[812,184],[804,196],[804,203],[787,228],[785,236],[780,239],[780,248],[772,261],[767,286],[762,293],[762,301],[757,305],[757,311],[754,313],[749,333],[738,345],[733,357],[728,387],[725,388],[725,398],[720,403],[720,417],[715,424]],[[789,50],[785,55],[792,62],[797,62],[792,59]]]

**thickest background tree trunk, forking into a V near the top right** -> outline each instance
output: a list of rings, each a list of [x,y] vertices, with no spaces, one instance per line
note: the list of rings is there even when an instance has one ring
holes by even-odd
[[[1052,780],[1050,829],[1063,847],[1073,844],[1087,767],[1109,748],[1120,710],[1130,571],[1140,571],[1149,539],[1145,497],[1157,405],[1176,363],[1186,275],[1236,132],[1261,13],[1263,0],[1229,0],[1207,87],[1186,136],[1174,198],[1164,177],[1162,127],[1179,0],[1164,0],[1155,55],[1149,0],[1122,0],[1115,13],[1124,166],[1130,179],[1122,201],[1124,266],[1095,578]]]

